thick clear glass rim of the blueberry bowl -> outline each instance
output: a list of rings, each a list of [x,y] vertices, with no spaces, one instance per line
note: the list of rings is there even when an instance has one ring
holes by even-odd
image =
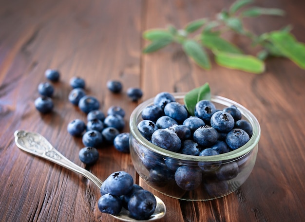
[[[171,93],[175,99],[183,99],[185,92],[173,92]],[[129,128],[131,135],[133,138],[145,148],[148,148],[154,153],[159,155],[173,158],[179,161],[192,161],[192,162],[214,162],[214,161],[229,161],[229,160],[236,160],[248,152],[250,152],[255,146],[257,146],[260,136],[261,136],[261,128],[257,118],[250,112],[247,108],[242,106],[241,104],[230,100],[226,97],[219,96],[219,95],[211,95],[211,101],[224,105],[224,106],[231,106],[235,105],[242,113],[243,116],[247,118],[253,128],[253,134],[244,146],[237,148],[235,150],[229,151],[227,153],[218,154],[214,156],[194,156],[194,155],[187,155],[182,153],[173,152],[164,148],[160,148],[150,141],[148,141],[137,129],[137,118],[140,117],[142,110],[153,104],[154,97],[145,100],[144,102],[140,103],[132,112],[129,121]]]

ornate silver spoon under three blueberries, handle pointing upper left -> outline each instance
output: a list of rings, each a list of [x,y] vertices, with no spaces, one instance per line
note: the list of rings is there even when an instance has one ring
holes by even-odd
[[[56,148],[54,148],[47,141],[46,138],[44,138],[39,133],[25,131],[25,130],[17,130],[15,131],[14,136],[15,136],[15,143],[17,147],[19,147],[20,149],[29,152],[33,155],[47,159],[53,163],[56,163],[67,169],[70,169],[76,173],[79,173],[82,176],[89,179],[90,181],[92,181],[100,189],[103,183],[100,179],[98,179],[94,174],[92,174],[88,170],[76,165],[75,163],[71,162],[66,157],[64,157],[60,152],[58,152]],[[163,201],[157,196],[154,197],[157,201],[156,209],[149,220],[145,220],[142,222],[158,220],[164,217],[166,213],[166,207]],[[119,214],[117,215],[110,214],[110,215],[118,220],[125,222],[134,222],[134,221],[141,222],[131,218],[129,216],[128,210],[126,210],[124,207],[122,208]]]

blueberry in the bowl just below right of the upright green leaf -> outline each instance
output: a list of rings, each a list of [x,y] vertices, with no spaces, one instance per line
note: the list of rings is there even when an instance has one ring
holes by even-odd
[[[210,123],[214,112],[216,112],[216,107],[210,100],[201,100],[195,106],[195,116],[204,120],[206,124]]]

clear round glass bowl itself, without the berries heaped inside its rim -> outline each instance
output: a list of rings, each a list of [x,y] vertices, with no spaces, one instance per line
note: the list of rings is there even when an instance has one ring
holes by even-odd
[[[185,93],[172,93],[172,95],[176,102],[183,104]],[[227,153],[214,156],[193,156],[155,146],[141,135],[137,124],[142,120],[142,110],[152,105],[153,99],[139,104],[132,112],[129,123],[133,166],[148,185],[173,198],[207,201],[234,192],[247,180],[256,161],[261,134],[259,122],[250,111],[225,97],[212,95],[211,101],[218,110],[235,105],[241,111],[242,119],[248,120],[252,125],[253,134],[244,146]],[[189,173],[197,175],[195,180],[200,185],[187,190],[177,185],[174,175],[175,169],[180,166],[191,169]]]

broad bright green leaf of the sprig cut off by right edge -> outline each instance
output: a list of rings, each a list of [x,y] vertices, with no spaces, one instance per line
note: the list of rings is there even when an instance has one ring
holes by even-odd
[[[305,69],[305,44],[296,40],[291,34],[283,31],[271,32],[269,41],[287,58],[300,68]]]

